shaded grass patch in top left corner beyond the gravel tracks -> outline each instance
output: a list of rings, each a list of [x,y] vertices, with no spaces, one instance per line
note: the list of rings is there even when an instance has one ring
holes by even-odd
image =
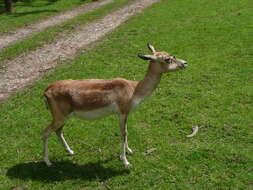
[[[91,0],[23,0],[13,3],[13,14],[0,14],[0,34],[11,32],[31,22],[80,6]],[[4,4],[1,1],[0,11]]]

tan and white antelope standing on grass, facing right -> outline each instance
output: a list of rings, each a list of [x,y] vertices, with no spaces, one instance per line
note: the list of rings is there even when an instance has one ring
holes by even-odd
[[[56,132],[69,154],[74,154],[64,139],[62,129],[69,115],[83,119],[98,119],[110,114],[118,114],[122,136],[120,159],[126,167],[131,166],[126,152],[132,154],[127,142],[127,117],[137,105],[149,96],[160,82],[163,73],[184,69],[187,62],[166,52],[157,52],[148,44],[152,55],[138,55],[149,60],[144,79],[135,82],[123,78],[62,80],[51,84],[44,93],[46,103],[52,113],[51,124],[43,131],[44,161],[48,166],[48,137]]]

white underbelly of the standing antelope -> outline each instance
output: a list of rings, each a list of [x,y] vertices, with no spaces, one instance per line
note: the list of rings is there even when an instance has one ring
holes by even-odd
[[[77,116],[81,119],[98,119],[111,114],[118,113],[118,106],[116,104],[111,104],[107,107],[91,110],[91,111],[75,111],[73,112],[74,116]]]

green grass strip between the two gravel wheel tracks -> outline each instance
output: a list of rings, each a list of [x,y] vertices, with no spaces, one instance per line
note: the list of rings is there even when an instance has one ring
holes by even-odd
[[[57,41],[58,38],[73,32],[77,27],[87,24],[93,20],[102,18],[106,14],[113,10],[126,5],[132,0],[117,0],[101,8],[95,9],[83,15],[77,16],[67,22],[50,27],[39,33],[33,34],[24,40],[18,41],[17,43],[8,46],[7,48],[0,51],[0,61],[7,59],[13,59],[18,55],[25,52],[35,50],[37,47],[41,47],[45,44]]]

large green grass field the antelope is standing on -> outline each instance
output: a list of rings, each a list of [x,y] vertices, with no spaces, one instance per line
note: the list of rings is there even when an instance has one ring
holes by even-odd
[[[253,3],[251,0],[163,0],[30,89],[0,104],[0,189],[252,189]],[[55,135],[41,161],[41,131],[51,119],[41,98],[61,79],[140,80],[146,43],[189,62],[163,77],[128,120],[130,170],[118,159],[115,116],[70,119],[69,157]],[[188,139],[193,125],[202,125]],[[150,155],[143,152],[156,148]]]

